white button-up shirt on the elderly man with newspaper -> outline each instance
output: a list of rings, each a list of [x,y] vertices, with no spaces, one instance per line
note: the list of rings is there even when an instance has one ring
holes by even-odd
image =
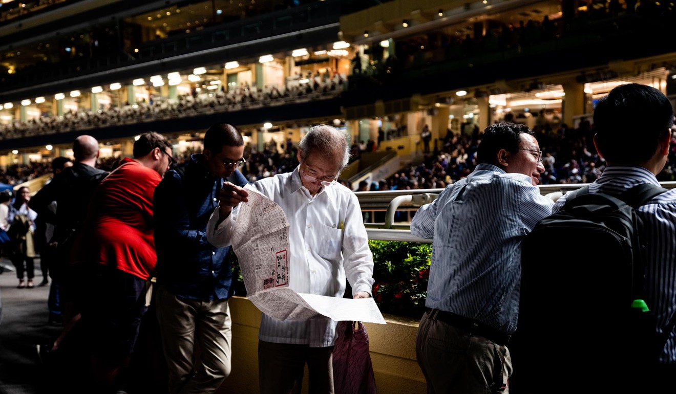
[[[371,293],[373,257],[356,195],[341,184],[323,187],[314,195],[303,186],[298,168],[263,178],[253,187],[279,204],[289,220],[289,288],[296,293],[343,297],[345,278],[352,295]],[[218,210],[207,226],[207,239],[216,246],[231,245],[237,207],[216,228]],[[333,345],[337,322],[276,320],[263,314],[259,339],[310,347]]]

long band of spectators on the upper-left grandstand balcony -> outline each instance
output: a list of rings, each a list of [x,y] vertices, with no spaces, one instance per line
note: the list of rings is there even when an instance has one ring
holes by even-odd
[[[343,89],[345,76],[335,74],[331,78],[320,76],[305,78],[307,82],[291,80],[281,88],[241,84],[235,89],[214,93],[181,95],[177,100],[164,99],[143,101],[121,107],[109,106],[96,111],[78,112],[70,110],[64,116],[41,117],[22,122],[14,120],[10,124],[0,125],[0,139],[18,139],[33,135],[55,134],[72,130],[89,130],[120,124],[183,118],[210,114],[212,112],[230,112],[239,109],[256,108],[264,105],[281,105],[289,102],[330,99],[339,95]]]

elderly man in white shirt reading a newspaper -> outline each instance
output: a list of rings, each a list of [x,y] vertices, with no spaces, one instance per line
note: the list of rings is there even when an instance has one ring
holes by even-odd
[[[300,141],[300,165],[254,183],[289,220],[289,287],[297,293],[343,297],[345,278],[354,298],[371,297],[373,259],[357,197],[336,182],[347,164],[345,133],[314,126]],[[233,216],[248,193],[226,182],[209,221],[212,245],[231,244]],[[233,215],[231,216],[231,212]],[[310,393],[333,393],[333,320],[276,320],[263,314],[258,341],[260,393],[300,393],[308,364]]]

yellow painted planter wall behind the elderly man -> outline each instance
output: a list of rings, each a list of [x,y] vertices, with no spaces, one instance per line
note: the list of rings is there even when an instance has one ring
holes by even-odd
[[[261,312],[245,297],[230,301],[233,317],[233,370],[217,394],[258,393],[258,328]],[[425,377],[416,362],[416,320],[385,315],[387,324],[366,323],[371,362],[379,393],[423,394]],[[303,393],[307,394],[307,370]]]

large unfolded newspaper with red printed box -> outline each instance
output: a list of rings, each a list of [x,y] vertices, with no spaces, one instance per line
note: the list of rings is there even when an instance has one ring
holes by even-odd
[[[372,298],[345,299],[289,289],[289,222],[282,208],[247,186],[249,202],[239,205],[233,249],[247,298],[279,320],[325,319],[385,324]]]

